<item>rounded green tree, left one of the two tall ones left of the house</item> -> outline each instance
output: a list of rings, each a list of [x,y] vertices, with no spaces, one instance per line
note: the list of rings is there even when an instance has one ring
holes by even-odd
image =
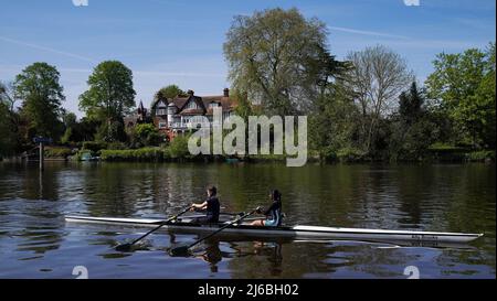
[[[65,97],[59,79],[59,71],[46,63],[34,63],[15,77],[14,96],[22,99],[21,115],[28,120],[29,138],[39,135],[56,140],[61,135]]]

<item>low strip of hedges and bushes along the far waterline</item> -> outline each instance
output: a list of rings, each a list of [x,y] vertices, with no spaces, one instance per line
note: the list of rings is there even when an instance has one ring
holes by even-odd
[[[104,147],[104,143],[98,143]],[[255,155],[191,155],[188,149],[178,147],[145,147],[138,149],[126,148],[95,148],[92,142],[91,148],[47,148],[44,151],[47,161],[101,161],[101,162],[225,162],[225,163],[264,163],[264,162],[286,162],[284,154],[255,154]],[[328,157],[326,160],[317,152],[308,154],[309,163],[469,163],[485,162],[495,163],[495,150],[470,150],[445,144],[435,144],[426,150],[423,157],[415,160],[374,160],[358,150],[340,150],[338,153]],[[20,157],[3,158],[3,161],[22,161]],[[36,161],[35,155],[30,161]],[[1,162],[2,160],[0,160]]]

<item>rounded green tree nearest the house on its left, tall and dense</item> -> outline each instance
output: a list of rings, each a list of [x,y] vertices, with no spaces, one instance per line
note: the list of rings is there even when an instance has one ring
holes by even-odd
[[[131,71],[118,61],[106,61],[95,67],[87,84],[88,90],[80,96],[80,109],[102,122],[101,139],[123,139],[124,127],[118,123],[135,106]]]

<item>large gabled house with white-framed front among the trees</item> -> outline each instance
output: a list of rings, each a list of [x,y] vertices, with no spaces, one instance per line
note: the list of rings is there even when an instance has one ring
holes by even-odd
[[[228,88],[223,90],[223,95],[216,96],[197,96],[193,90],[189,90],[186,97],[158,99],[152,104],[151,116],[159,131],[172,139],[179,133],[199,128],[202,116],[209,119],[209,126],[220,126],[212,125],[215,107],[222,108],[223,121],[234,114],[236,104],[230,98]]]

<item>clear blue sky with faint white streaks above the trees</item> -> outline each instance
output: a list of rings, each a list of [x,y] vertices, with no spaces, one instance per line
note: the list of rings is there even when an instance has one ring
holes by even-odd
[[[486,47],[495,41],[495,0],[2,0],[0,80],[25,66],[47,62],[61,72],[66,101],[77,97],[98,62],[119,60],[134,72],[136,100],[150,104],[161,86],[178,84],[198,95],[230,87],[222,44],[236,14],[297,8],[328,25],[329,49],[338,58],[384,44],[409,62],[420,80],[437,53]]]

